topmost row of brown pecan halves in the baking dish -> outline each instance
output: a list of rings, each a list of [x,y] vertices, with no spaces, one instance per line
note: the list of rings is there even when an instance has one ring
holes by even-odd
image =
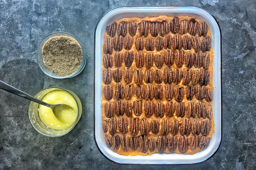
[[[114,37],[116,35],[116,30],[118,36],[125,37],[125,35],[127,34],[127,27],[129,34],[133,37],[137,32],[137,23],[129,23],[129,25],[127,26],[127,23],[123,21],[119,23],[119,26],[117,28],[117,24],[116,22],[114,22],[107,26],[106,31],[110,37]],[[208,32],[208,25],[204,21],[201,22],[199,25],[198,22],[196,22],[194,19],[189,20],[189,23],[186,20],[182,20],[179,23],[177,17],[174,17],[174,19],[170,23],[170,26],[165,20],[163,20],[161,23],[151,22],[150,26],[147,21],[143,20],[138,24],[138,27],[140,36],[144,35],[144,37],[148,37],[149,31],[152,37],[157,37],[158,34],[163,37],[166,33],[169,33],[170,31],[173,34],[179,33],[180,35],[183,35],[189,33],[192,36],[198,34],[199,36],[205,37]]]

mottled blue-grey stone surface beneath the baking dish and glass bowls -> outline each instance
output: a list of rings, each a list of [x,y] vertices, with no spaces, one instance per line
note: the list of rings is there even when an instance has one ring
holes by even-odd
[[[100,17],[117,6],[200,6],[222,32],[223,133],[217,153],[193,165],[122,165],[106,159],[93,139],[93,39]],[[55,31],[75,35],[87,63],[70,79],[47,77],[36,62],[41,40]],[[0,0],[0,79],[31,95],[59,86],[79,94],[83,114],[67,135],[40,135],[29,101],[0,90],[0,169],[256,169],[255,0]]]

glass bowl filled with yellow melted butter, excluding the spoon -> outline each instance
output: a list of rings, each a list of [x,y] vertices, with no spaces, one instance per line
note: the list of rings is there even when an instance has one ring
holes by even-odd
[[[51,108],[30,102],[29,120],[39,133],[49,136],[63,136],[72,130],[79,121],[82,105],[79,97],[70,90],[58,87],[43,89],[35,95],[36,98],[50,104],[63,103],[70,107]]]

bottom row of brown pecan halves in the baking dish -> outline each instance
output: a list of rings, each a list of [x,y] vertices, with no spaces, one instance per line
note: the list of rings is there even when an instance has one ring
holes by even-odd
[[[192,136],[188,139],[187,136],[180,136],[179,140],[176,136],[158,136],[157,140],[155,138],[148,139],[146,135],[141,135],[139,137],[128,138],[128,136],[121,136],[121,138],[116,135],[112,136],[112,139],[105,135],[105,142],[109,148],[112,148],[114,151],[117,151],[121,145],[121,148],[124,152],[128,152],[129,148],[131,150],[137,150],[139,148],[140,152],[147,153],[154,152],[157,149],[157,152],[163,153],[166,148],[169,152],[173,153],[178,146],[180,153],[186,153],[188,149],[195,150],[199,148],[204,150],[208,147],[210,138],[206,136]]]

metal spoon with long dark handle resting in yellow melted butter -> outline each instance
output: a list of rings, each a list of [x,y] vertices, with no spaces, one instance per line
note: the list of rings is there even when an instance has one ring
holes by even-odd
[[[8,91],[8,92],[10,92],[12,94],[16,94],[16,95],[18,95],[20,97],[23,97],[25,99],[29,99],[29,100],[31,100],[33,102],[39,103],[40,105],[47,106],[47,107],[51,108],[52,111],[54,111],[55,107],[58,106],[58,105],[66,105],[66,104],[49,104],[47,102],[43,102],[42,100],[39,100],[39,99],[37,99],[35,97],[32,97],[32,96],[24,93],[23,91],[20,91],[17,88],[14,88],[11,85],[6,84],[5,82],[2,82],[1,80],[0,80],[0,88],[5,90],[5,91]],[[66,106],[70,107],[69,105],[66,105]]]

